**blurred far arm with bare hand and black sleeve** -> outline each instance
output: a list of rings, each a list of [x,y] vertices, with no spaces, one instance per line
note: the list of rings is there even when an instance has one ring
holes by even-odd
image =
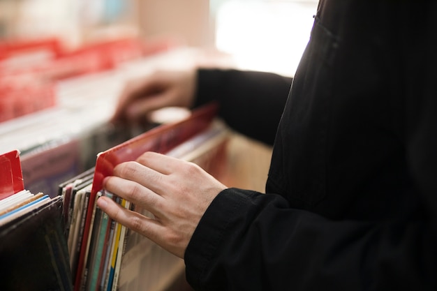
[[[219,114],[230,127],[273,144],[290,84],[291,78],[273,73],[214,69],[158,71],[126,84],[112,121],[137,124],[147,119],[149,112],[162,107],[196,107],[218,100]]]

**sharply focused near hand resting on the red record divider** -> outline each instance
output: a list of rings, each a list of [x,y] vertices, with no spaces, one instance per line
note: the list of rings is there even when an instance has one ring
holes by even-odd
[[[226,186],[194,163],[147,152],[117,165],[103,188],[154,215],[148,218],[108,197],[98,198],[98,207],[110,218],[184,258],[200,218]]]

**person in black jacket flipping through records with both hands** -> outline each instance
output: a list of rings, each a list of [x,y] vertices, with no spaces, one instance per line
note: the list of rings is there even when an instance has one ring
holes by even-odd
[[[436,1],[322,0],[292,81],[144,80],[117,120],[219,100],[232,128],[273,142],[266,193],[147,152],[104,186],[155,217],[98,206],[184,258],[195,290],[437,290],[436,14]]]

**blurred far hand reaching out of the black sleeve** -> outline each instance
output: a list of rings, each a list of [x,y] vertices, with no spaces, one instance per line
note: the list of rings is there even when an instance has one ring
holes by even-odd
[[[195,94],[195,69],[158,71],[141,80],[128,82],[119,98],[112,122],[137,123],[153,110],[190,107]]]

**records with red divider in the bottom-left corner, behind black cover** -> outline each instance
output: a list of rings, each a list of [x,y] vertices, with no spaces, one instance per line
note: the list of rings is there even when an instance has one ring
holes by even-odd
[[[18,151],[0,156],[1,290],[73,290],[64,199],[24,190]]]

